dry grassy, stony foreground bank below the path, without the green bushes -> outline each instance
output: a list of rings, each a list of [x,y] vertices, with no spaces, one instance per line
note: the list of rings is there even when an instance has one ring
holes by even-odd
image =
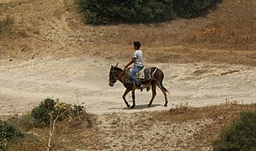
[[[227,128],[237,120],[240,112],[252,110],[256,110],[255,104],[227,102],[209,107],[189,107],[187,104],[180,104],[169,111],[113,113],[102,115],[100,118],[84,114],[84,121],[75,117],[71,121],[56,124],[51,149],[115,150],[142,147],[201,150],[211,148],[212,141],[216,140],[221,129]],[[25,137],[13,143],[8,149],[45,150],[49,128],[28,129],[26,125],[21,124],[23,122],[19,122],[19,117],[11,120],[14,120],[16,127],[21,128]]]

